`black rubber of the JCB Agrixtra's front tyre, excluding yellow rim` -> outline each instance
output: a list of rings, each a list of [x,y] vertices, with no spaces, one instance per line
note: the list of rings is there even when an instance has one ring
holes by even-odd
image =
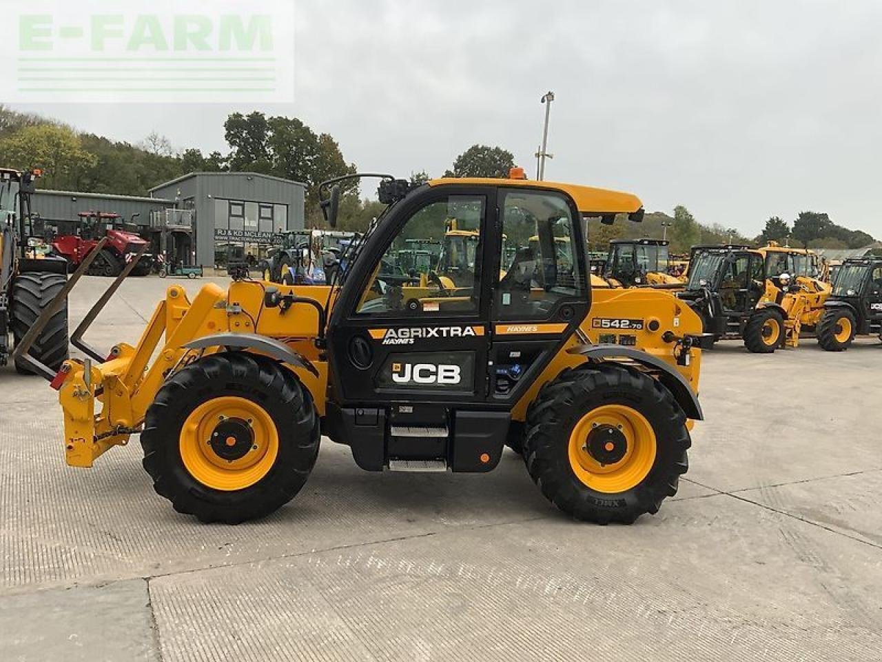
[[[272,418],[279,439],[278,454],[265,476],[235,491],[193,478],[179,442],[191,412],[226,395],[257,403]],[[293,372],[269,358],[228,352],[199,359],[161,387],[146,412],[141,445],[153,488],[176,511],[206,523],[236,524],[269,515],[295,497],[316,463],[319,438],[312,398]]]

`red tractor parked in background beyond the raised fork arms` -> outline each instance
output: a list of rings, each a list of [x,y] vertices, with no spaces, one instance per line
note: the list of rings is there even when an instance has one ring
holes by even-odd
[[[119,275],[132,255],[148,243],[134,232],[121,229],[123,223],[119,214],[88,211],[77,215],[80,222],[76,234],[58,236],[52,241],[52,251],[67,260],[71,269],[78,267],[103,237],[108,237],[108,243],[89,267],[88,274]],[[149,274],[150,263],[145,254],[131,275]]]

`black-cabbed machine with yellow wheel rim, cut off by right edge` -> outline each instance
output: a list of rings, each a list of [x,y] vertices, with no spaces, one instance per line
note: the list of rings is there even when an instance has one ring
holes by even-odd
[[[882,258],[845,260],[824,304],[818,345],[827,351],[848,350],[856,335],[882,340]]]

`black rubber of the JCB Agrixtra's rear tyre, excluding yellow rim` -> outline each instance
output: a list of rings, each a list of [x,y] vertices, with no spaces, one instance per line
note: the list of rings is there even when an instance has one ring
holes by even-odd
[[[638,411],[652,426],[655,453],[647,475],[624,492],[599,492],[586,485],[569,459],[571,433],[592,410],[617,404]],[[606,524],[632,523],[654,514],[676,494],[689,468],[691,445],[683,410],[668,389],[621,365],[567,369],[542,387],[527,410],[524,458],[527,470],[552,503],[576,519]]]

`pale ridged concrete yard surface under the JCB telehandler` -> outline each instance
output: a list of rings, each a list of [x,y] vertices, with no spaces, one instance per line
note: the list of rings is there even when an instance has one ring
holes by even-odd
[[[137,341],[169,284],[124,282],[90,342]],[[325,440],[295,500],[230,527],[154,493],[137,438],[65,466],[56,392],[4,368],[0,660],[879,659],[878,369],[873,338],[705,352],[690,470],[632,526],[561,515],[510,451],[368,473]]]

